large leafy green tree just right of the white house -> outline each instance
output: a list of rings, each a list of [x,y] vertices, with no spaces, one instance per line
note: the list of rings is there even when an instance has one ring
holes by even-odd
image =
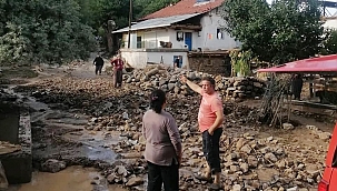
[[[225,30],[260,61],[285,63],[319,51],[323,22],[316,0],[226,0]]]

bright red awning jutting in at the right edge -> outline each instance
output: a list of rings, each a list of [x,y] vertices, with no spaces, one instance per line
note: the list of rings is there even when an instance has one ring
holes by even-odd
[[[258,72],[337,72],[337,54],[298,60],[268,69],[260,69]]]

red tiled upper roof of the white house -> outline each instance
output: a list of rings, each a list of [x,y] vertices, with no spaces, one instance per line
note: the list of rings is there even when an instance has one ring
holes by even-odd
[[[192,14],[208,12],[222,4],[225,0],[210,0],[210,2],[201,2],[197,4],[197,0],[181,0],[174,6],[166,7],[143,17],[141,20],[166,18],[171,16]]]

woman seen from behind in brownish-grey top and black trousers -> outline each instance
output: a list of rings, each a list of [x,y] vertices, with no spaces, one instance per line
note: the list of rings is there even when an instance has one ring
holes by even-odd
[[[166,94],[155,90],[150,94],[150,110],[142,117],[146,139],[145,159],[148,163],[148,191],[179,190],[181,139],[174,117],[166,112]]]

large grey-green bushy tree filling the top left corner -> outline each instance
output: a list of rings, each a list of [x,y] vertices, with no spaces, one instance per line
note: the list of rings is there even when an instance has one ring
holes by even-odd
[[[73,0],[1,0],[0,62],[65,63],[86,59],[92,29]]]

